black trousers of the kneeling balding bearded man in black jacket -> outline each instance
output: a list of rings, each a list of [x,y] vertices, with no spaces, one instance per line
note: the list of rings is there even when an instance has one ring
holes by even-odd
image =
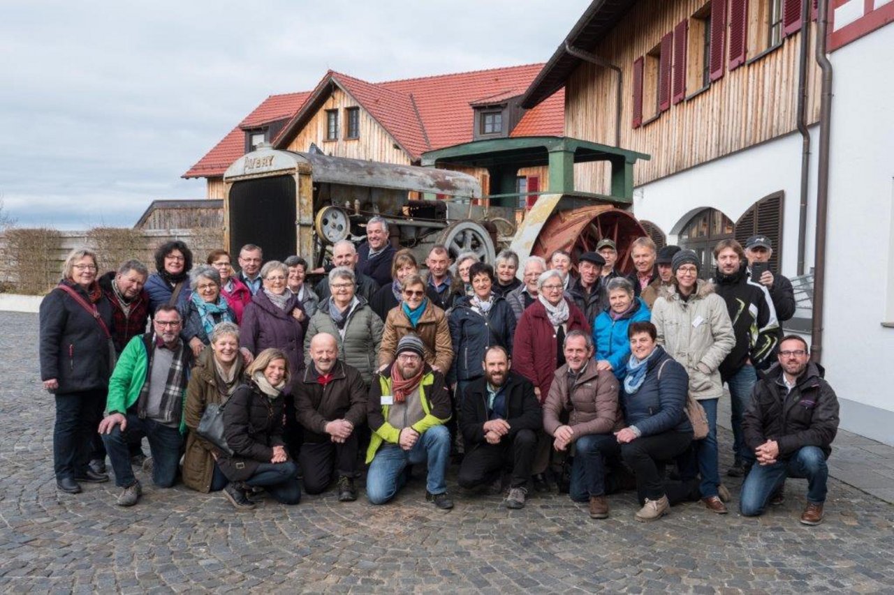
[[[537,435],[533,430],[519,430],[512,438],[504,436],[499,444],[481,442],[466,453],[457,481],[463,488],[474,488],[492,482],[505,466],[512,466],[510,486],[527,486],[537,451]]]

